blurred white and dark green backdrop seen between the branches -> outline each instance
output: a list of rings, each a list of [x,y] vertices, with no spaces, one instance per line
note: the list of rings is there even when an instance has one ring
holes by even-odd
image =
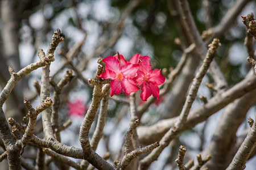
[[[197,28],[200,33],[203,33],[220,23],[235,1],[188,2]],[[60,122],[65,122],[68,118],[72,119],[71,127],[61,133],[61,142],[80,147],[79,127],[92,96],[92,88],[88,86],[86,80],[95,76],[98,65],[97,57],[114,56],[118,51],[128,60],[134,54],[140,53],[142,56],[150,56],[152,67],[164,69],[165,75],[170,73],[170,69],[179,62],[183,53],[181,46],[186,42],[183,42],[182,32],[177,25],[174,4],[175,1],[163,0],[2,0],[0,88],[2,89],[9,80],[8,66],[18,71],[31,62],[38,61],[38,49],[42,48],[46,52],[53,32],[59,28],[65,35],[65,41],[61,42],[56,50],[55,62],[51,63],[50,75],[55,82],[59,82],[65,70],[74,69],[74,67],[77,69],[77,72],[73,70],[75,77],[64,89],[61,97]],[[246,1],[240,15],[247,15],[250,12],[255,14],[255,9],[255,1]],[[241,22],[240,15],[232,21],[225,35],[220,37],[221,46],[215,58],[229,86],[240,82],[250,69],[246,61],[248,54],[243,45],[246,34],[245,25]],[[72,61],[73,66],[67,63],[67,60]],[[7,118],[14,117],[20,121],[26,114],[23,106],[25,96],[32,101],[34,107],[39,104],[40,99],[34,87],[34,80],[38,80],[40,84],[40,74],[40,69],[33,71],[17,84],[5,105]],[[210,81],[210,76],[206,76],[202,84]],[[198,94],[213,96],[213,93],[205,86],[200,87]],[[122,94],[118,97],[120,100],[127,99]],[[167,104],[168,97],[170,97],[169,94],[150,106],[142,117],[142,125],[152,125],[166,117],[164,105]],[[72,112],[74,107],[72,104],[81,109]],[[142,103],[138,103],[140,104]],[[200,100],[196,100],[192,109],[201,104]],[[246,117],[254,118],[255,111],[254,106]],[[185,131],[177,139],[179,141],[177,143],[182,143],[187,147],[187,160],[195,159],[196,154],[208,145],[220,115],[221,111],[210,117],[207,124],[203,122],[192,130]],[[122,147],[123,135],[129,128],[129,120],[129,107],[125,101],[122,103],[110,100],[104,138],[97,148],[100,155],[106,151],[112,153],[110,162],[117,159]],[[243,123],[237,133],[248,127],[246,122]],[[37,128],[36,133],[39,137],[41,134],[42,137],[40,120],[38,120]],[[176,168],[174,162],[176,158],[170,158],[169,155],[170,152],[177,153],[178,148],[179,145],[176,146],[176,150],[167,147],[158,161],[152,164],[151,169]],[[36,152],[33,152],[31,148],[27,150],[30,152],[27,152],[27,155],[24,152],[23,156],[34,162]],[[3,163],[0,163],[0,166],[1,164]],[[53,165],[50,167],[54,169]],[[255,169],[256,159],[249,160],[246,167],[246,169]]]

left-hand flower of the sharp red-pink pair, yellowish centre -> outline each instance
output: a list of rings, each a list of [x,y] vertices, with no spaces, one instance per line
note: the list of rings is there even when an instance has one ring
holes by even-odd
[[[122,55],[109,56],[102,60],[105,62],[105,71],[98,77],[102,79],[112,79],[110,82],[110,96],[120,94],[130,94],[139,90],[134,77],[137,75],[138,65],[134,65],[123,58]]]

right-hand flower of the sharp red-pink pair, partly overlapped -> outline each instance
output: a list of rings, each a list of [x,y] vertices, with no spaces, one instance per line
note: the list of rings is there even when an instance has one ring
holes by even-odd
[[[139,70],[135,80],[138,86],[142,86],[141,99],[147,101],[147,98],[153,95],[159,100],[159,85],[164,83],[164,76],[161,75],[159,69],[152,71],[148,56],[139,57]]]

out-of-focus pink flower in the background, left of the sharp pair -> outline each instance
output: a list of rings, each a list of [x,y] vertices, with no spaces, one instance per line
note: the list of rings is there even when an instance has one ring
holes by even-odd
[[[86,105],[82,104],[81,99],[76,99],[74,102],[68,101],[67,107],[68,107],[68,116],[69,117],[72,117],[72,116],[82,117],[82,116],[84,116],[85,111],[87,109]]]

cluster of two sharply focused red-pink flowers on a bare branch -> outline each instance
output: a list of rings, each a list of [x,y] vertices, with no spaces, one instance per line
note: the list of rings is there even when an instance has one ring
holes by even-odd
[[[164,76],[159,69],[151,69],[150,58],[135,54],[127,61],[121,54],[109,56],[102,60],[105,71],[99,75],[102,79],[112,79],[110,82],[110,96],[130,94],[141,87],[141,99],[146,101],[153,95],[159,100],[159,85],[164,83]],[[138,87],[139,86],[139,87]]]

